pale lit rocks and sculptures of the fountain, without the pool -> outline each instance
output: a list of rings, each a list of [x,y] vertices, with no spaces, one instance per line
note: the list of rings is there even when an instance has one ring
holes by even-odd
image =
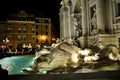
[[[97,65],[99,62],[105,61],[107,63],[119,62],[119,53],[119,49],[114,45],[103,46],[101,44],[81,49],[74,44],[63,42],[53,48],[46,56],[35,56],[34,63],[30,66],[31,70],[23,69],[23,72],[28,74],[70,73],[94,62],[97,62]]]

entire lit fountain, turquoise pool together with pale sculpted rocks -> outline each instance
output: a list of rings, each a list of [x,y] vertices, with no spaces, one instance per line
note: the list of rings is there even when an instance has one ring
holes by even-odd
[[[6,57],[0,60],[0,64],[9,74],[63,74],[118,70],[119,48],[112,44],[104,46],[99,35],[95,36],[93,44],[92,48],[82,49],[76,46],[74,40],[58,40],[49,47],[37,49],[35,55]]]

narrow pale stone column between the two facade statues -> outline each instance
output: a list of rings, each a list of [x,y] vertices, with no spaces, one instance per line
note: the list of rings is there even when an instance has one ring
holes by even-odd
[[[87,6],[86,0],[81,0],[82,6],[82,35],[87,36]]]

